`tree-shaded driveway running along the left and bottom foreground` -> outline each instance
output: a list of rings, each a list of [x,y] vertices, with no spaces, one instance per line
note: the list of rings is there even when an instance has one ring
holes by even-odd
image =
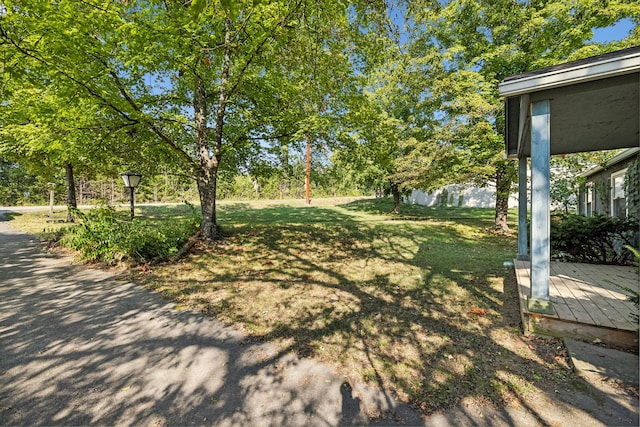
[[[539,393],[526,407],[423,420],[326,365],[45,253],[0,220],[0,425],[637,425],[633,402],[576,399]]]

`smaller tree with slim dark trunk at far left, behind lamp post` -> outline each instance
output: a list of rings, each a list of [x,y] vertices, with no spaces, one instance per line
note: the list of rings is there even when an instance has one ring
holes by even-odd
[[[20,65],[22,69],[14,67],[5,82],[0,153],[45,181],[57,181],[64,170],[67,206],[75,208],[75,172],[112,173],[117,153],[105,142],[105,129],[91,99],[77,96],[69,103],[55,91],[20,76],[28,69]],[[71,209],[67,219],[72,220]]]

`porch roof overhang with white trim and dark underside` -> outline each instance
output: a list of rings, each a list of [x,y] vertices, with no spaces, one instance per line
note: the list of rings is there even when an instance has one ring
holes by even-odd
[[[531,156],[531,104],[550,100],[550,154],[640,145],[640,46],[518,74],[499,85],[507,157]]]

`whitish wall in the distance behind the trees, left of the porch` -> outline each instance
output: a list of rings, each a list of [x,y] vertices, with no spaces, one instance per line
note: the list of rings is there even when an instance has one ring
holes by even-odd
[[[452,206],[465,208],[495,208],[496,192],[492,188],[447,185],[432,193],[413,190],[404,198],[405,203],[423,206]],[[509,208],[518,207],[517,195],[509,197]]]

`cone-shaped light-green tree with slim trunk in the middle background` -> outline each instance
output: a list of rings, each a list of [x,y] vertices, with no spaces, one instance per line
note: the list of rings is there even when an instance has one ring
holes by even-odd
[[[388,12],[395,14],[394,9]],[[434,75],[407,54],[397,24],[397,20],[389,22],[377,34],[377,55],[382,60],[374,62],[367,74],[366,98],[351,109],[352,125],[341,135],[344,148],[335,156],[336,161],[355,168],[367,186],[392,195],[394,212],[401,195],[417,186],[417,171],[424,178],[429,165],[442,166],[452,159],[451,145],[434,139],[436,104],[426,94]],[[419,146],[428,149],[417,150]],[[433,162],[436,158],[437,164]],[[414,167],[416,163],[420,166]],[[443,182],[441,173],[430,172],[430,185]],[[422,188],[426,181],[419,183]]]

